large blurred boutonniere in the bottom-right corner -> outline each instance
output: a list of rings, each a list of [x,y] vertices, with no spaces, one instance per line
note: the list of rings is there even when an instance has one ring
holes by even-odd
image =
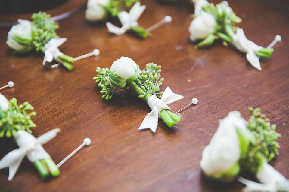
[[[200,167],[212,180],[238,179],[247,184],[245,191],[287,191],[288,180],[268,164],[278,155],[276,140],[281,135],[259,108],[249,111],[249,122],[238,111],[219,121],[219,128],[203,150]],[[239,177],[240,173],[250,173],[262,184]]]

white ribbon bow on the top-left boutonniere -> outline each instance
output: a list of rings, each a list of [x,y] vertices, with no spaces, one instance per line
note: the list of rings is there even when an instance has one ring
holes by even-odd
[[[44,60],[42,62],[45,65],[46,62],[51,62],[53,59],[57,60],[60,55],[63,55],[62,52],[58,49],[66,41],[66,38],[53,38],[48,41],[47,44],[43,47]]]

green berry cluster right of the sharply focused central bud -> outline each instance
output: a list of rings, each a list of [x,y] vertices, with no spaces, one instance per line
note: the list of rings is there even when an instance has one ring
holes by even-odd
[[[157,92],[160,90],[164,78],[160,78],[161,66],[149,63],[146,68],[140,71],[136,83],[146,93],[146,95],[156,95],[161,98],[163,92]],[[143,98],[146,95],[139,95],[139,98]]]

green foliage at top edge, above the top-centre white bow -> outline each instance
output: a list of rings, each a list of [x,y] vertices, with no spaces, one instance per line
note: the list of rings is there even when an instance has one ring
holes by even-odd
[[[113,17],[121,11],[128,11],[138,0],[110,0],[107,6],[103,6]]]

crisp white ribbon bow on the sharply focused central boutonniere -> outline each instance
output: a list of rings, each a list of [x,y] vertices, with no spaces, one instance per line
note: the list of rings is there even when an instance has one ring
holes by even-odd
[[[157,120],[158,117],[160,117],[161,110],[170,109],[167,104],[170,104],[182,98],[184,98],[184,96],[173,93],[169,87],[167,87],[166,90],[163,91],[161,99],[158,99],[157,96],[152,95],[150,98],[148,98],[148,106],[150,106],[152,111],[148,113],[147,116],[145,116],[144,120],[141,123],[141,126],[138,129],[141,130],[150,128],[151,131],[155,133],[157,130]]]

